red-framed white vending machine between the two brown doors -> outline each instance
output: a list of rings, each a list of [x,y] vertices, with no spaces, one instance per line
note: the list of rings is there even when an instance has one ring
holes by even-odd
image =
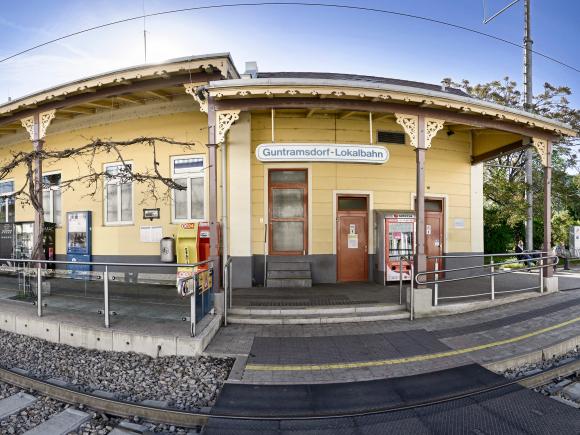
[[[387,284],[411,280],[412,256],[415,254],[415,212],[375,211],[375,280]],[[403,257],[401,259],[401,257]]]

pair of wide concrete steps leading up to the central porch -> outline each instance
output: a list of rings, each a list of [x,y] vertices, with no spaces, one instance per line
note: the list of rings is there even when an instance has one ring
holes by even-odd
[[[228,322],[247,325],[309,325],[408,319],[404,305],[377,304],[348,307],[234,307]]]

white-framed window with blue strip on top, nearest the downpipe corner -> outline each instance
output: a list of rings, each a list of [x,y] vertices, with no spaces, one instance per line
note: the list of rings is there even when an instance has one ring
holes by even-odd
[[[179,156],[171,159],[173,181],[183,190],[173,189],[173,220],[205,219],[204,159]]]

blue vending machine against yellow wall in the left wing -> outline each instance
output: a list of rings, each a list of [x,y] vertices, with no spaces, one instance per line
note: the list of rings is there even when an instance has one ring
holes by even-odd
[[[71,211],[66,214],[66,259],[89,262],[92,259],[92,212]],[[89,264],[67,264],[73,278],[88,279]]]

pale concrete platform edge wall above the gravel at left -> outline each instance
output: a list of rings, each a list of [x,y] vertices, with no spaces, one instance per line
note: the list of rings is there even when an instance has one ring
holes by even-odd
[[[217,334],[222,323],[221,315],[207,316],[198,324],[199,333],[188,336],[152,336],[146,330],[134,331],[120,328],[95,328],[77,322],[59,322],[42,317],[30,317],[10,312],[0,312],[0,329],[40,338],[53,343],[86,349],[137,352],[151,357],[197,357]]]

